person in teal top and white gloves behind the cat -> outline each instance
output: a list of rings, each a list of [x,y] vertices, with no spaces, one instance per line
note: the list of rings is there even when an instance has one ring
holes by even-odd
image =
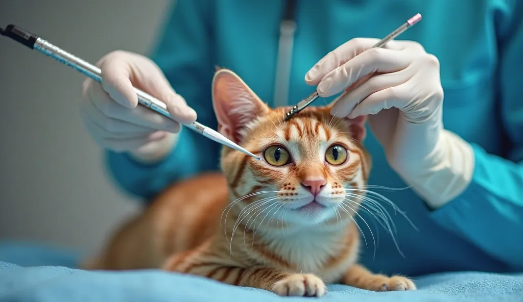
[[[400,40],[369,49],[416,13],[423,20]],[[417,229],[388,208],[403,257],[369,216],[379,244],[374,257],[367,240],[362,263],[408,275],[523,271],[521,54],[521,1],[178,0],[151,59],[116,51],[98,62],[103,86],[86,80],[82,117],[118,185],[151,199],[218,169],[221,146],[179,131],[196,118],[217,124],[215,66],[272,107],[314,89],[331,101],[370,74],[331,113],[368,115],[369,183],[411,186],[380,193]],[[137,107],[131,84],[165,101],[174,121]]]

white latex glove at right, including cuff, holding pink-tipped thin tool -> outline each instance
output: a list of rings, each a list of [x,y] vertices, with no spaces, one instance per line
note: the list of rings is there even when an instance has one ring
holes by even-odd
[[[433,208],[470,183],[472,147],[443,127],[444,99],[436,56],[419,43],[357,38],[328,53],[305,75],[321,97],[346,90],[331,114],[369,114],[389,165]],[[348,88],[347,88],[348,87]]]

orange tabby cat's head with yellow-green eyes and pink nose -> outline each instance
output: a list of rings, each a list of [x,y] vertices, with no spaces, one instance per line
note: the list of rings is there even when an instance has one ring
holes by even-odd
[[[331,106],[324,106],[283,122],[290,107],[269,108],[228,69],[215,74],[212,97],[220,133],[261,157],[223,148],[231,201],[250,196],[236,204],[247,210],[256,202],[256,213],[279,211],[279,219],[295,224],[319,224],[356,210],[354,194],[360,194],[347,189],[367,183],[365,117],[333,118]]]

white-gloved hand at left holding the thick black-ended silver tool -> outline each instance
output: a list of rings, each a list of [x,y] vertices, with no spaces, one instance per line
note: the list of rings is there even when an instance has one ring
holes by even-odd
[[[172,149],[180,124],[196,120],[196,112],[176,94],[160,68],[146,57],[111,52],[98,61],[102,85],[86,79],[81,116],[90,135],[104,148],[128,152],[151,162]],[[133,85],[166,103],[173,119],[138,106]]]

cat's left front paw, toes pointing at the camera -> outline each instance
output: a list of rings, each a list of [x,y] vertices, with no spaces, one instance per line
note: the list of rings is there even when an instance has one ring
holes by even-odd
[[[295,274],[276,282],[272,292],[280,296],[321,297],[327,293],[327,287],[313,274]]]

